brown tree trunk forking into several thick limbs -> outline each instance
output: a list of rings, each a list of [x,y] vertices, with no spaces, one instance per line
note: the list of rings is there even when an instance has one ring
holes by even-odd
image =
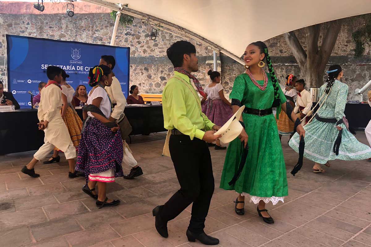
[[[338,39],[341,24],[342,20],[328,23],[326,32],[322,37],[321,49],[318,49],[318,39],[322,24],[305,27],[306,52],[293,31],[283,34],[286,43],[298,62],[301,72],[305,76],[307,89],[310,87],[321,87],[324,84],[324,70]]]

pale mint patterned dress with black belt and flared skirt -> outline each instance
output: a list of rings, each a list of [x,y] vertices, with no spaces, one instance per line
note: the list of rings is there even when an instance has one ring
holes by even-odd
[[[319,97],[324,94],[327,83],[319,89]],[[344,115],[345,103],[347,103],[348,86],[335,80],[332,89],[318,110],[318,116],[324,118],[342,119]],[[326,97],[326,96],[325,96]],[[321,103],[324,99],[321,100]],[[305,130],[305,149],[304,157],[319,164],[326,164],[329,160],[364,160],[371,157],[371,148],[360,143],[345,127],[344,123],[340,125],[343,128],[339,155],[333,151],[338,129],[336,123],[323,123],[313,119],[311,123],[304,126]],[[290,147],[299,152],[299,135],[296,133],[289,142]]]

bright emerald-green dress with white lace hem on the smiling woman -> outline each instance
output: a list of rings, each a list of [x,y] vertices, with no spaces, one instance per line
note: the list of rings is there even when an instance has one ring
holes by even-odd
[[[262,85],[263,81],[258,81],[258,83]],[[279,97],[281,104],[286,102],[281,88]],[[229,98],[240,100],[242,105],[249,108],[268,109],[272,107],[274,89],[270,76],[268,75],[268,86],[265,91],[255,86],[246,73],[237,76]],[[243,151],[240,139],[236,138],[228,146],[220,188],[249,195],[250,202],[253,201],[255,204],[260,200],[265,203],[272,201],[273,205],[278,201],[283,202],[283,197],[288,195],[288,186],[275,116],[243,113],[242,117],[249,136],[249,153],[246,163],[236,183],[230,186],[228,182],[238,170]]]

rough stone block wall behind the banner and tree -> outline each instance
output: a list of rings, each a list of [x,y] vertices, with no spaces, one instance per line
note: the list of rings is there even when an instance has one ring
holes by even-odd
[[[343,67],[345,75],[343,82],[349,85],[349,92],[364,86],[371,79],[370,43],[367,43],[364,56],[361,59],[354,59],[351,34],[358,24],[359,20],[356,18],[345,20],[329,62],[329,64],[338,63]],[[6,34],[109,44],[114,20],[110,18],[109,13],[75,14],[73,18],[66,14],[0,14],[0,25],[3,27],[0,30],[0,74],[6,80],[6,66],[4,66]],[[146,23],[134,19],[131,26],[119,26],[115,45],[131,49],[130,84],[139,86],[142,93],[161,93],[166,81],[173,74],[173,66],[166,57],[166,49],[181,38],[158,30],[157,39],[152,41],[149,32]],[[297,30],[296,34],[299,40],[305,40],[303,30]],[[195,74],[205,86],[209,83],[207,71],[213,68],[213,51],[195,40],[190,41],[196,46],[200,65],[200,70]],[[289,73],[301,76],[296,60],[283,36],[265,42],[281,82],[285,81],[284,78]],[[303,48],[305,49],[305,44]],[[243,52],[242,50],[241,54]],[[222,74],[221,83],[228,98],[234,79],[244,72],[244,68],[223,54],[220,54],[218,59]],[[99,56],[96,63],[98,61]]]

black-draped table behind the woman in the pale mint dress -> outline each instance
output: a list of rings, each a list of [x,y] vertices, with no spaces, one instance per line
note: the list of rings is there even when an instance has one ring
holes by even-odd
[[[316,103],[313,103],[313,107]],[[318,109],[313,109],[315,112]],[[371,120],[371,107],[366,103],[351,104],[347,103],[344,110],[345,117],[348,120],[349,126],[352,128],[365,128]]]

